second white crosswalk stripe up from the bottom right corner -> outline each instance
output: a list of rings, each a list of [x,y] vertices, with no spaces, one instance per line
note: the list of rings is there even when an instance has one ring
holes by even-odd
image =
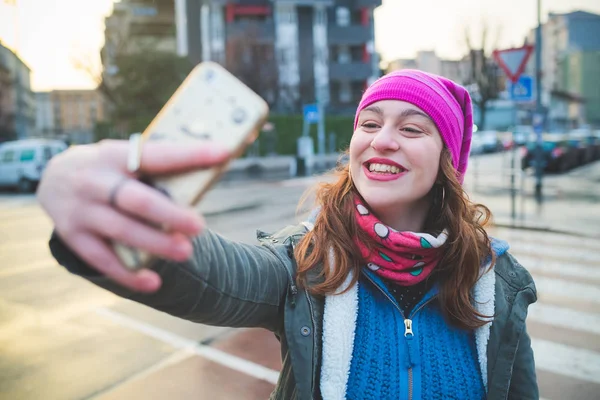
[[[529,306],[527,320],[600,335],[600,315],[552,304],[532,304]]]

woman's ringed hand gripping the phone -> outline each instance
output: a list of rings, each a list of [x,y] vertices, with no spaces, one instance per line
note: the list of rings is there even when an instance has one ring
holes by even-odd
[[[137,181],[127,170],[128,146],[127,141],[105,140],[57,155],[46,167],[37,198],[57,234],[90,267],[132,290],[153,292],[161,284],[158,274],[127,270],[110,241],[184,261],[192,254],[190,237],[202,231],[204,222],[192,208]],[[205,143],[147,142],[139,172],[152,176],[206,168],[227,156],[223,149]],[[150,224],[168,226],[169,232]]]

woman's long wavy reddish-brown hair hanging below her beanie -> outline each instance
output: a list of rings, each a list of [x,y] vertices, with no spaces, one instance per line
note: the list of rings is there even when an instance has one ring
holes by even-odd
[[[360,268],[366,260],[354,244],[354,238],[358,237],[370,249],[376,247],[376,243],[356,223],[353,197],[358,192],[352,183],[348,165],[340,163],[332,172],[337,179],[313,188],[320,212],[314,229],[294,250],[298,284],[314,295],[323,296],[331,295],[340,288],[350,271],[353,272],[352,284],[358,280]],[[471,330],[484,325],[484,318],[492,317],[478,313],[471,296],[482,260],[491,256],[492,265],[495,261],[485,231],[492,214],[486,206],[469,200],[456,177],[452,156],[446,148],[440,157],[437,182],[429,194],[432,206],[424,231],[432,234],[439,234],[444,229],[448,231],[448,240],[441,248],[443,255],[435,270],[440,284],[439,304],[450,324]],[[307,198],[308,195],[301,204]],[[330,251],[335,260],[333,265],[330,265]],[[315,272],[319,265],[323,268],[315,271],[320,279],[309,279],[309,273]]]

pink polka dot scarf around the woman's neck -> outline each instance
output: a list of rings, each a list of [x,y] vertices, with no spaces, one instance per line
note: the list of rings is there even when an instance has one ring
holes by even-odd
[[[448,239],[446,231],[438,237],[399,232],[379,221],[360,199],[355,200],[355,205],[358,224],[380,245],[371,252],[357,241],[367,267],[401,286],[415,285],[431,274],[441,258],[440,248]]]

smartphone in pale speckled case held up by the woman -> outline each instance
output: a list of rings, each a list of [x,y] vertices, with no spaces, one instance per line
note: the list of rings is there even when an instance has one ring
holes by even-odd
[[[195,206],[260,133],[267,120],[267,103],[225,68],[214,62],[196,66],[142,133],[142,141],[214,142],[230,150],[219,166],[176,175],[144,177],[144,182],[172,201]],[[148,265],[152,256],[114,242],[123,264],[132,270]]]

